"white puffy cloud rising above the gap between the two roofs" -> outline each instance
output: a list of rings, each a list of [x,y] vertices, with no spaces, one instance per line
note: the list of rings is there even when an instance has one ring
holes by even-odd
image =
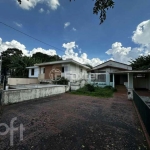
[[[70,42],[66,44],[64,43],[62,47],[66,49],[65,54],[62,56],[62,59],[64,60],[71,58],[82,64],[90,64],[92,66],[96,66],[104,62],[99,58],[88,59],[88,55],[86,53],[81,53],[80,56],[78,56],[79,54],[74,52],[74,50],[78,48],[78,45],[76,45],[75,42]]]

